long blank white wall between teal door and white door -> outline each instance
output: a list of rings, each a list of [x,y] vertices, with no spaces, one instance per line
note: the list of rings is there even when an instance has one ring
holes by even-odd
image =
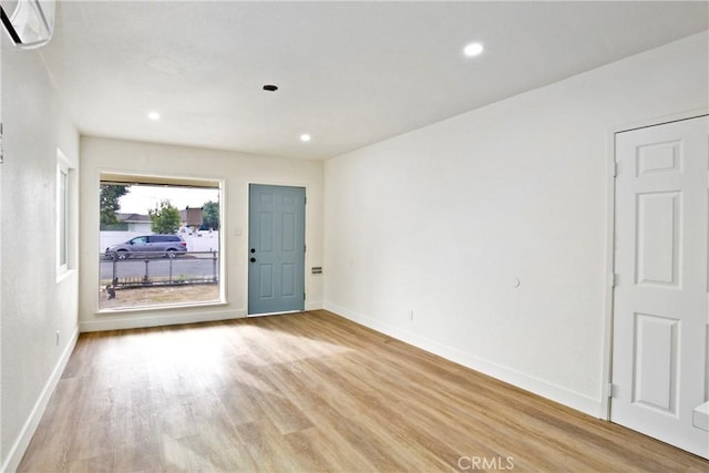
[[[707,71],[703,33],[328,161],[325,307],[605,415],[610,130]]]

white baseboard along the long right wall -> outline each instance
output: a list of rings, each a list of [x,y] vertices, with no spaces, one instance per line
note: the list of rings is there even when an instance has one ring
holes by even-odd
[[[483,374],[491,376],[495,379],[507,382],[517,388],[522,388],[525,391],[538,394],[543,398],[549,399],[554,402],[558,402],[559,404],[564,404],[577,411],[584,412],[594,418],[605,419],[603,403],[598,399],[593,399],[564,387],[559,387],[542,379],[515,371],[507,367],[503,367],[495,362],[475,357],[471,353],[466,353],[458,348],[449,347],[435,340],[431,340],[427,337],[422,337],[408,330],[402,330],[398,327],[393,327],[389,323],[382,323],[379,320],[353,312],[343,307],[339,307],[327,301],[323,306],[326,310],[335,312],[357,323],[363,325],[364,327],[369,327],[373,330],[386,333],[398,340],[413,345],[414,347],[421,348],[425,351],[430,351],[431,353],[443,357],[446,360],[462,364]]]

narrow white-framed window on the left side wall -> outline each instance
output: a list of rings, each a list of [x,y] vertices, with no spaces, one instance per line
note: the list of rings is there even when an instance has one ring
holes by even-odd
[[[56,276],[72,269],[71,188],[73,169],[66,156],[56,150]]]

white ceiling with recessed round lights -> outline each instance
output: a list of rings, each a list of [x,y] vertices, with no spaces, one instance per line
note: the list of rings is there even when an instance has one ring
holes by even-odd
[[[327,158],[707,30],[708,4],[70,1],[40,51],[83,134]]]

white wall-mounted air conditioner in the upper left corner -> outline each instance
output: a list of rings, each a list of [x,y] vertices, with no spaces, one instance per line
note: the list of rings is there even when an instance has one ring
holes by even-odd
[[[0,0],[2,25],[20,48],[39,48],[52,39],[54,0]]]

